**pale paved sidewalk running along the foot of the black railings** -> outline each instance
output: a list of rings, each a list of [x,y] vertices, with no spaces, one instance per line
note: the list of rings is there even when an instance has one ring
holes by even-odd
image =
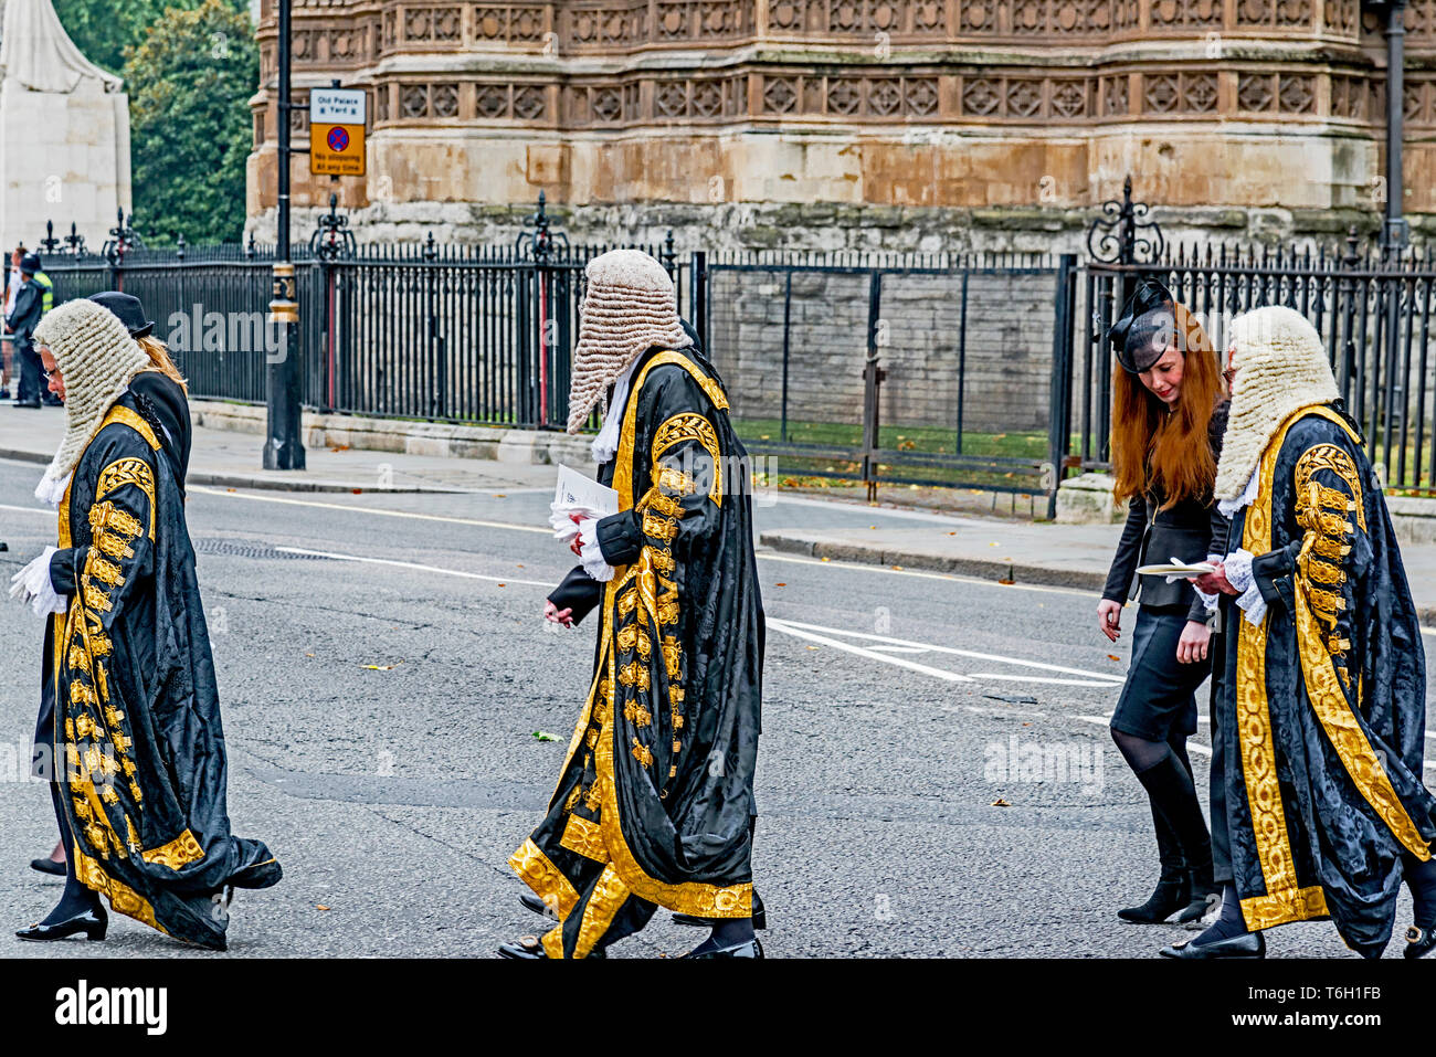
[[[50,461],[63,414],[0,406],[0,458]],[[197,427],[190,484],[316,493],[454,495],[511,493],[513,514],[547,517],[556,468],[530,462],[310,448],[307,470],[261,470],[263,437]],[[516,494],[528,493],[528,494]],[[777,551],[834,562],[923,569],[982,579],[1077,587],[1096,593],[1107,579],[1120,526],[1070,526],[946,516],[843,500],[758,497],[758,541]],[[0,501],[29,497],[0,497]],[[1436,625],[1436,544],[1402,550],[1416,605]]]

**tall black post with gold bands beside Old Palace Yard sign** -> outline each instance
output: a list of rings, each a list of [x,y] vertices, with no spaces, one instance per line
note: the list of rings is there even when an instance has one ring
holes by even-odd
[[[270,326],[283,327],[284,340],[266,353],[264,401],[269,425],[264,439],[266,470],[303,470],[302,439],[299,299],[294,263],[289,247],[290,204],[290,36],[293,0],[279,0],[279,236],[274,250],[274,292],[270,300]]]

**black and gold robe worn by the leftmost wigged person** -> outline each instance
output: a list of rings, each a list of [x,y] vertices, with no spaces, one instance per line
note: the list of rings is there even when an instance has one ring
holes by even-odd
[[[230,833],[210,636],[184,500],[126,394],[76,465],[50,562],[56,780],[76,876],[119,913],[224,949],[214,895],[273,862]]]

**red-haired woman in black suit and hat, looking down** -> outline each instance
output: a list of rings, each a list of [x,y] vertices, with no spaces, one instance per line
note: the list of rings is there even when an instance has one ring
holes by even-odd
[[[1130,500],[1130,510],[1097,622],[1116,642],[1126,600],[1139,599],[1111,737],[1152,801],[1162,865],[1147,902],[1117,915],[1156,923],[1179,912],[1186,922],[1200,918],[1221,890],[1186,754],[1186,738],[1196,732],[1196,689],[1211,674],[1209,602],[1186,580],[1136,570],[1146,562],[1192,563],[1226,553],[1226,523],[1212,498],[1226,404],[1206,332],[1160,283],[1139,284],[1109,339],[1122,365],[1113,378],[1116,498]]]

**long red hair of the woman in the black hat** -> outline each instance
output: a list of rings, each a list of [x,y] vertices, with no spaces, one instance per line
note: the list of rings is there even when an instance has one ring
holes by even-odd
[[[1111,379],[1111,464],[1116,500],[1156,491],[1166,510],[1179,500],[1208,501],[1216,460],[1208,441],[1212,411],[1222,396],[1216,349],[1185,304],[1173,310],[1182,352],[1182,392],[1170,412],[1142,379],[1120,366]]]

